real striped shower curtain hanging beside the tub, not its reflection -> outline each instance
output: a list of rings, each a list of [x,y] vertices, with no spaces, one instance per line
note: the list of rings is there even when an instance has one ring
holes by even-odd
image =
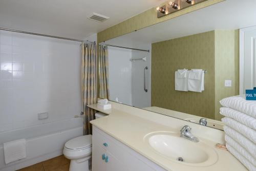
[[[90,121],[95,119],[95,110],[87,107],[97,102],[97,55],[95,42],[82,43],[81,92],[83,107],[83,134],[92,134]]]

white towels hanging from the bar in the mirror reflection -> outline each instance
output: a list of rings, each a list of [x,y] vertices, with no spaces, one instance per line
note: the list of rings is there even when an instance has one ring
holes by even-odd
[[[204,71],[202,69],[178,70],[175,72],[175,90],[204,91]]]

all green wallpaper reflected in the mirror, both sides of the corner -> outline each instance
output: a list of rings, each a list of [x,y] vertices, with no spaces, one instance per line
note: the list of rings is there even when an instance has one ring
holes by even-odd
[[[178,69],[204,69],[205,91],[174,88]],[[224,87],[231,79],[232,87]],[[219,101],[239,94],[239,31],[215,30],[152,44],[152,106],[220,120]]]

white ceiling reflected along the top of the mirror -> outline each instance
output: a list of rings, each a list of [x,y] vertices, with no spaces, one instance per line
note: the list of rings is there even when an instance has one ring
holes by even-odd
[[[256,26],[256,1],[226,0],[106,42],[137,48],[143,43],[154,43],[211,30],[250,26]]]

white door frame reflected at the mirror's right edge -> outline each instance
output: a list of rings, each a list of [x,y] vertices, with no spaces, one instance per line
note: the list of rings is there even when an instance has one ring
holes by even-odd
[[[244,32],[256,30],[256,26],[239,29],[239,94],[244,94]]]

